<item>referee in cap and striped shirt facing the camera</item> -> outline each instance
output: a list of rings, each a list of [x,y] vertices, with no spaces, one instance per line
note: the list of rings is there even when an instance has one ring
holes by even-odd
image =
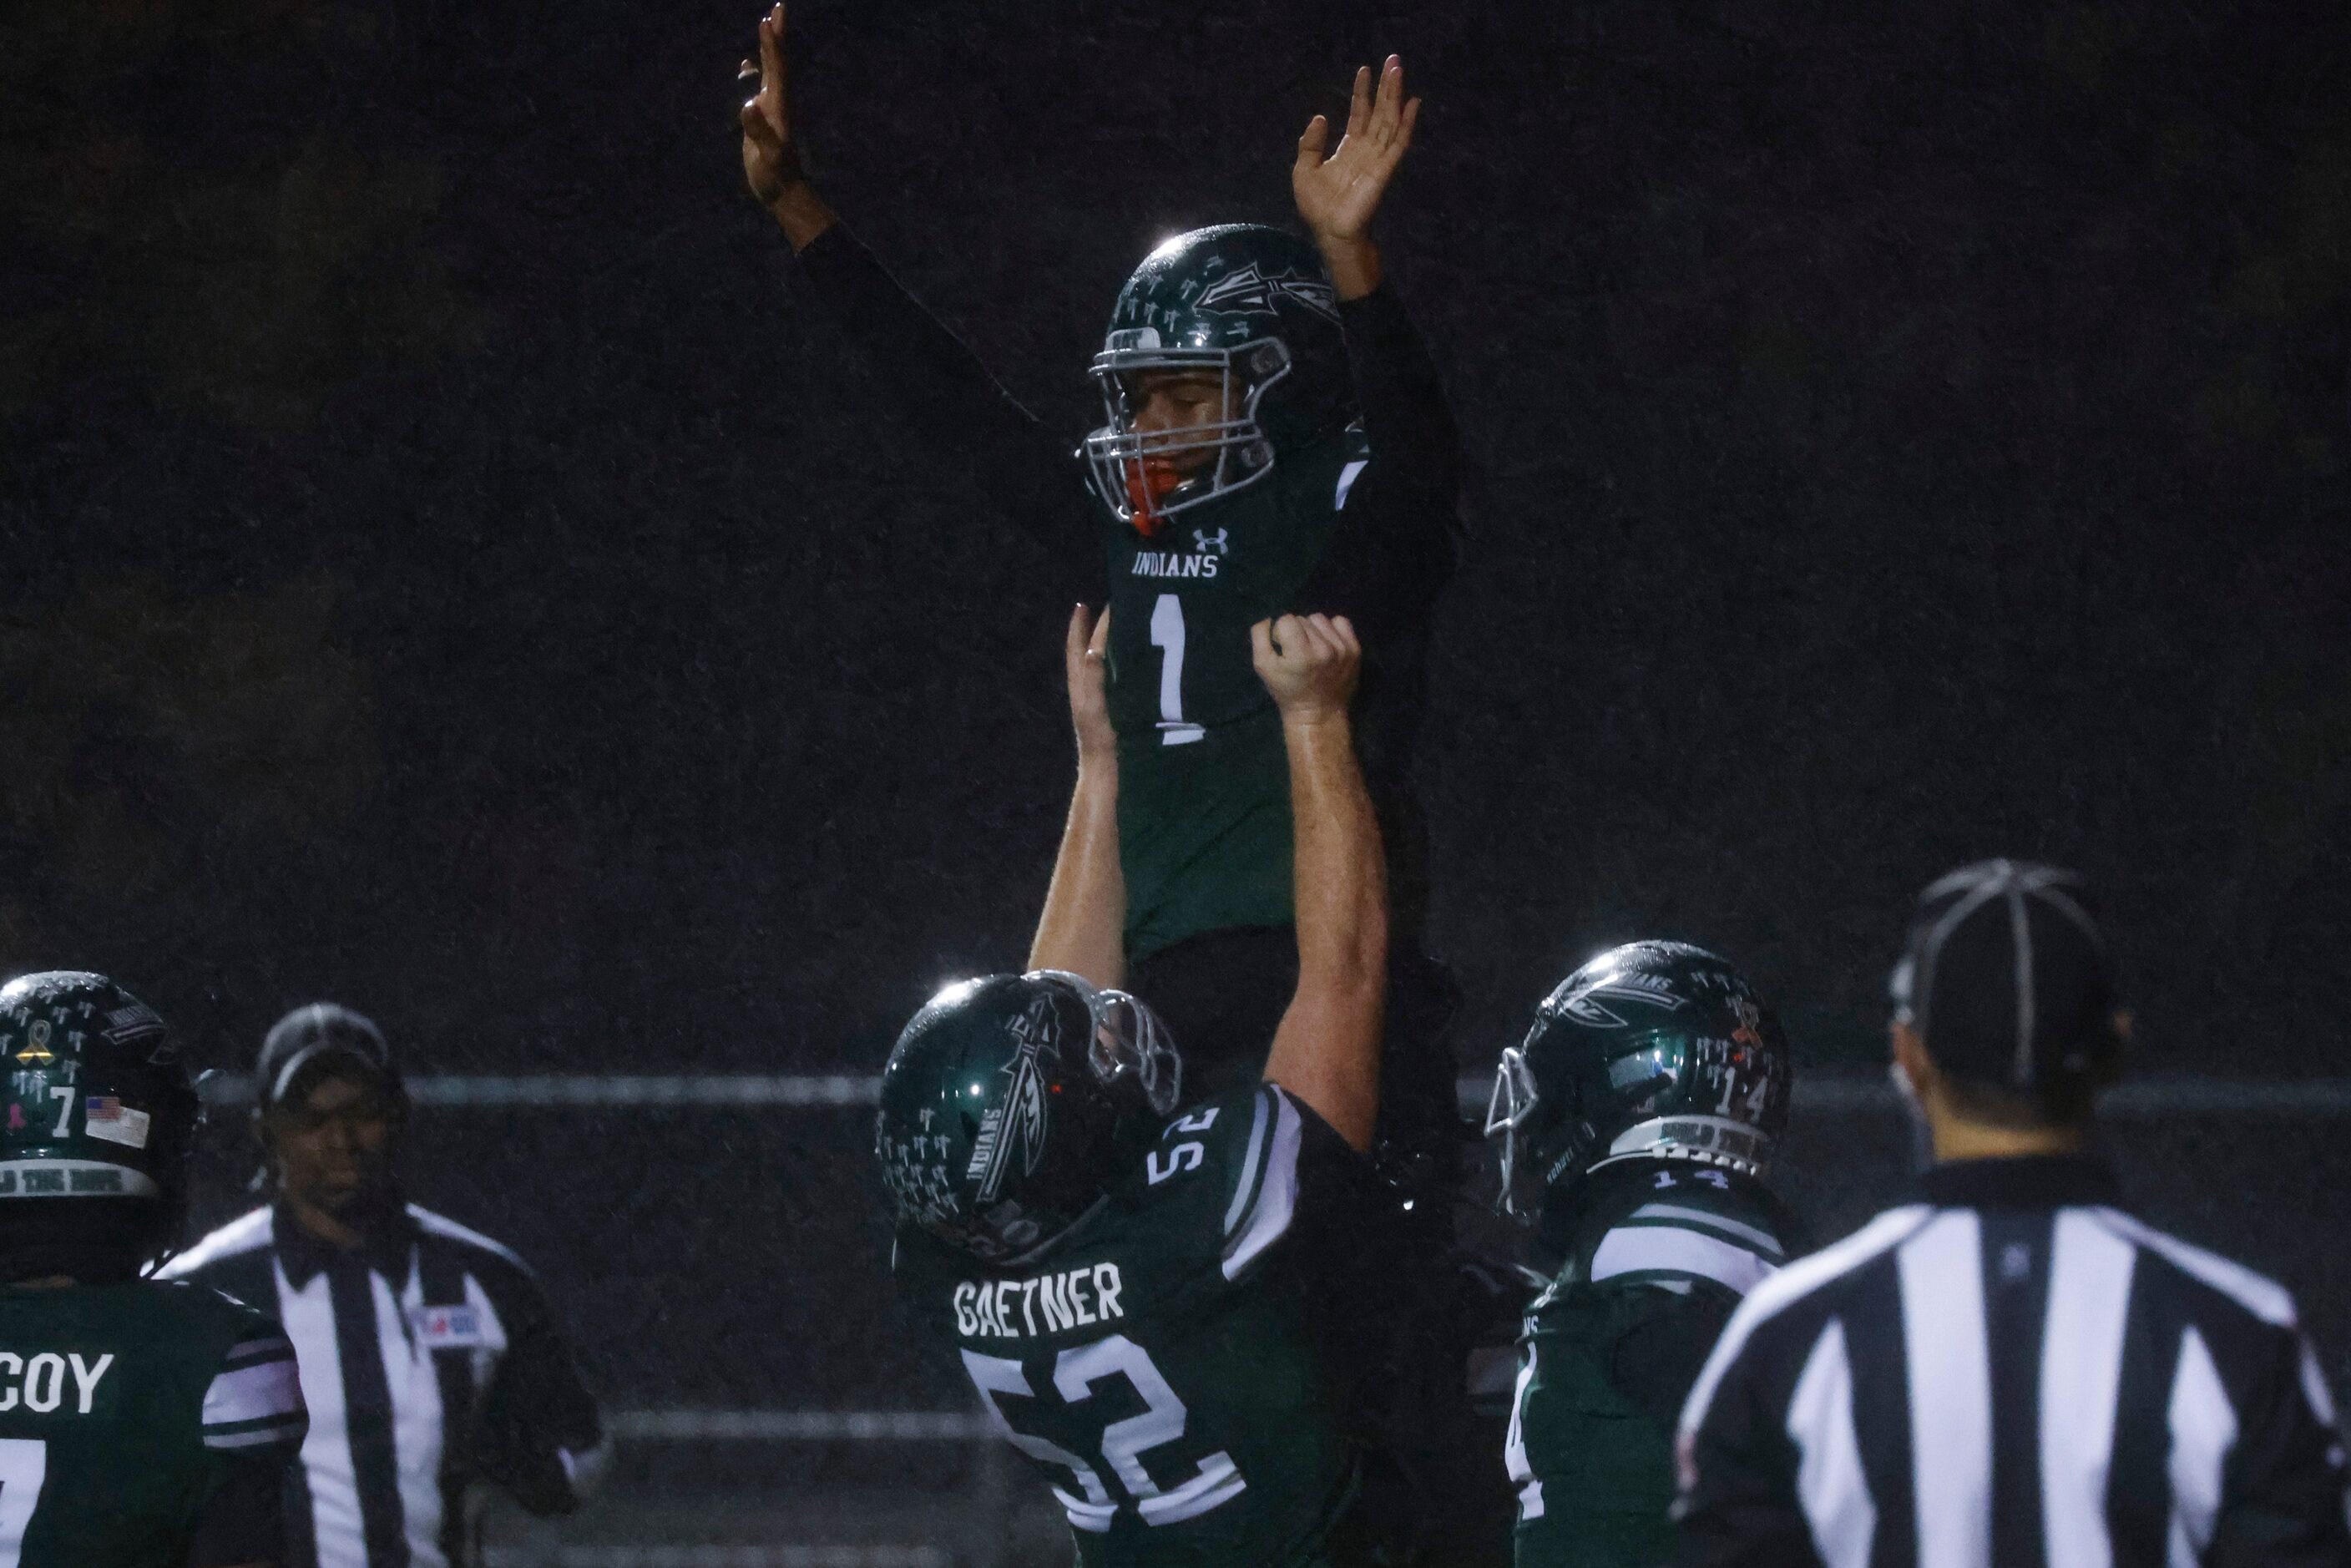
[[[310,1436],[289,1568],[463,1568],[468,1495],[576,1507],[602,1458],[595,1399],[508,1248],[400,1197],[407,1093],[374,1023],[296,1009],[261,1046],[273,1201],[165,1269],[284,1324]]]

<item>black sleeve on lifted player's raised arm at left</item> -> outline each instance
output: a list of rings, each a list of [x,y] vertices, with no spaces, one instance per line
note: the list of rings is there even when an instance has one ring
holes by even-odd
[[[1093,562],[1093,510],[1070,449],[846,226],[835,223],[799,252],[795,275],[860,346],[900,414],[936,442],[966,494],[1006,512],[1058,562]],[[1098,583],[1100,571],[1084,581]]]

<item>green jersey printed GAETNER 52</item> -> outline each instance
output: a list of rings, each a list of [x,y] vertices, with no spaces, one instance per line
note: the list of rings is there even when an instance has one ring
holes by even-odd
[[[1357,1180],[1338,1133],[1253,1084],[1171,1121],[1044,1258],[905,1234],[917,1314],[1051,1483],[1084,1568],[1333,1561],[1357,1446],[1310,1255]]]

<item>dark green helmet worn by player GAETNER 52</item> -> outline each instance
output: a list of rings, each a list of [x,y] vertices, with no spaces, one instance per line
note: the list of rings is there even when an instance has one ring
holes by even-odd
[[[898,1220],[990,1262],[1049,1248],[1176,1110],[1183,1065],[1126,992],[1039,969],[931,997],[882,1067],[875,1154]]]

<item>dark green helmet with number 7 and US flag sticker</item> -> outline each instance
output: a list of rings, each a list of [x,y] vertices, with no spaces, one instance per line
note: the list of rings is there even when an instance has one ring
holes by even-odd
[[[120,1215],[148,1255],[169,1246],[202,1105],[165,1020],[106,976],[19,976],[0,987],[0,1215]]]

